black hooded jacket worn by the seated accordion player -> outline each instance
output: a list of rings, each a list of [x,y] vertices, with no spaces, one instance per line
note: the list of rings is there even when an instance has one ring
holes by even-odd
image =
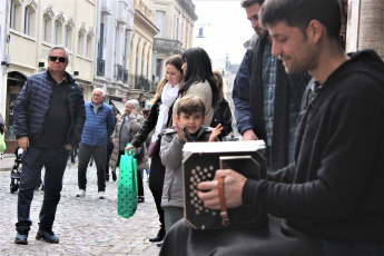
[[[384,62],[358,51],[303,97],[295,163],[247,180],[245,204],[322,239],[384,242]]]

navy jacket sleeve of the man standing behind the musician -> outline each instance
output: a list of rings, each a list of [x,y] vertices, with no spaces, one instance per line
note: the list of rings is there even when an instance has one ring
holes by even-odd
[[[249,51],[244,56],[240,67],[237,71],[234,88],[232,92],[233,101],[235,105],[235,118],[237,129],[243,135],[246,130],[252,130],[252,111],[249,104]]]

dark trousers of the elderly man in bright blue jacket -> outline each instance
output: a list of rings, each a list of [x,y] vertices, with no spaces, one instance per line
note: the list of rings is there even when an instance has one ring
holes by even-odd
[[[106,190],[106,161],[107,161],[107,145],[102,147],[92,147],[80,144],[79,149],[79,165],[78,165],[78,181],[79,189],[86,190],[87,188],[87,168],[91,155],[95,157],[97,168],[97,186],[98,191]]]

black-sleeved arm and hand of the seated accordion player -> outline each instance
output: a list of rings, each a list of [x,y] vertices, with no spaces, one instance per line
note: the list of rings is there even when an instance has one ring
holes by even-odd
[[[313,170],[306,169],[307,166],[289,165],[285,169],[285,174],[269,176],[275,178],[285,176],[289,179],[293,173],[295,175],[306,174],[313,176],[309,178],[311,180],[296,184],[266,179],[246,179],[244,181],[244,179],[236,178],[237,176],[232,171],[218,170],[218,175],[226,176],[225,189],[228,208],[242,204],[257,205],[274,216],[303,221],[328,221],[349,216],[356,205],[362,204],[361,200],[370,190],[368,187],[375,184],[372,178],[377,171],[374,167],[377,154],[374,152],[382,150],[382,141],[377,141],[377,138],[383,138],[381,127],[384,125],[383,121],[381,125],[377,124],[377,117],[383,115],[382,105],[378,104],[378,100],[366,100],[370,97],[375,99],[374,96],[348,98],[345,95],[333,101],[326,125],[328,138],[326,141],[322,141],[325,144],[323,149],[317,155],[307,151],[301,152],[305,156],[305,161],[319,158],[318,168]],[[370,115],[366,115],[367,112]],[[306,134],[315,132],[314,128],[308,129],[312,130]],[[364,139],[356,145],[356,140],[351,138],[358,138],[362,134],[364,134]],[[233,183],[230,181],[233,179],[240,181]],[[211,189],[206,194],[199,193],[199,197],[206,205],[215,209],[217,209],[218,201],[216,184],[217,181],[214,180],[207,184],[201,183],[198,186],[199,189]],[[238,190],[233,191],[235,187],[242,190],[242,197],[238,195]],[[374,189],[378,189],[378,186]]]

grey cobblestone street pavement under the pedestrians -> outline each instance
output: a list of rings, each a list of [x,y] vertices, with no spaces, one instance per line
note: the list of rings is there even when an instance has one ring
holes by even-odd
[[[107,181],[106,199],[97,198],[95,164],[87,170],[87,195],[76,197],[77,165],[69,164],[63,177],[61,200],[58,205],[53,232],[59,244],[36,240],[43,191],[35,191],[31,205],[32,226],[28,245],[16,245],[18,191],[10,193],[10,173],[14,155],[0,159],[0,255],[142,255],[159,254],[156,244],[148,240],[159,228],[151,193],[144,178],[146,201],[138,204],[131,218],[117,214],[117,183]],[[42,171],[43,174],[43,171]]]

